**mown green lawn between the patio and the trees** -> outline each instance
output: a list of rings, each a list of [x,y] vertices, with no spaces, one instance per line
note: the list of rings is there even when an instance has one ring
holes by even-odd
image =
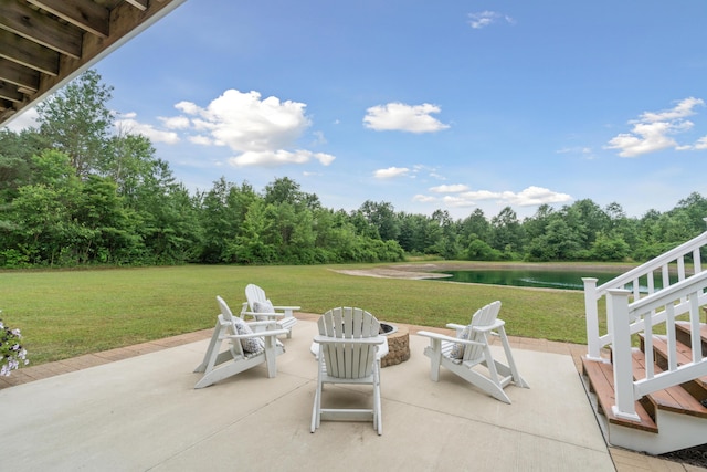
[[[476,308],[500,300],[509,335],[585,343],[581,292],[335,272],[377,265],[0,272],[0,317],[22,331],[32,365],[211,328],[214,297],[239,312],[249,283],[265,289],[273,303],[303,312],[359,306],[381,321],[437,327],[468,323]]]

